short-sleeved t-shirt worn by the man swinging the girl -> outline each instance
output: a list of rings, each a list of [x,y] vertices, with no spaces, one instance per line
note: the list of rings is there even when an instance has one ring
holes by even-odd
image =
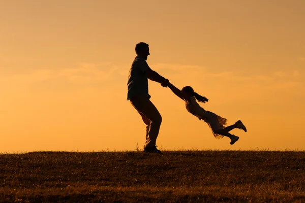
[[[129,70],[127,100],[130,100],[133,96],[150,98],[148,94],[147,69],[149,69],[149,66],[146,60],[142,56],[137,55]]]

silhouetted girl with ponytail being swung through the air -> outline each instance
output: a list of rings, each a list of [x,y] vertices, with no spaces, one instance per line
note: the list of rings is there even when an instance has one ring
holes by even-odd
[[[234,128],[239,128],[247,132],[246,126],[243,125],[240,120],[235,122],[233,125],[225,127],[224,125],[226,125],[227,119],[222,118],[215,113],[205,111],[202,107],[200,107],[196,99],[203,103],[208,101],[208,99],[194,92],[192,87],[186,86],[182,88],[182,90],[179,90],[171,83],[169,83],[168,87],[174,94],[186,101],[186,108],[188,112],[194,116],[197,116],[199,120],[204,120],[208,124],[215,138],[221,139],[226,136],[231,139],[230,144],[233,145],[239,139],[239,137],[234,136],[234,134],[230,134],[229,131]]]

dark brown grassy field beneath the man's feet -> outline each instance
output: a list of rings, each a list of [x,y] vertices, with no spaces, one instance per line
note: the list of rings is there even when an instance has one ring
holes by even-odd
[[[305,152],[0,155],[0,202],[305,202]]]

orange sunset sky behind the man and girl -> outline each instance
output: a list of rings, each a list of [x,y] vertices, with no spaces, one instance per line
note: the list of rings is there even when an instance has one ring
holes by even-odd
[[[142,149],[127,101],[138,42],[147,63],[248,132],[217,140],[149,81],[166,150],[305,150],[305,1],[0,0],[0,152]]]

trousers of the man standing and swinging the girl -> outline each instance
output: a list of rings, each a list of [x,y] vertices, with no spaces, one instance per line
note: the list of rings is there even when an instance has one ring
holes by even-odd
[[[131,104],[134,106],[134,108],[140,113],[142,119],[144,116],[150,121],[149,129],[148,129],[148,138],[146,137],[146,143],[144,148],[156,147],[156,140],[162,122],[162,117],[159,111],[148,98],[137,96],[132,98],[130,101]],[[147,126],[146,126],[146,130],[147,130]]]

